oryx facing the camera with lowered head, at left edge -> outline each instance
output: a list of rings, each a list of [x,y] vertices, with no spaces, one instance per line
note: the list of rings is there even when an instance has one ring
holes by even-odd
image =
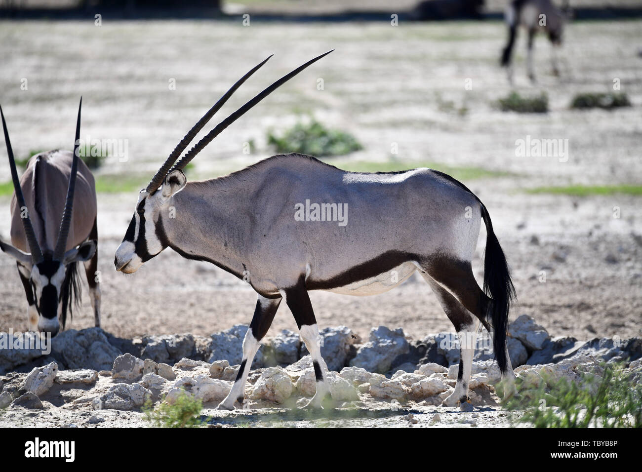
[[[11,200],[11,241],[0,249],[17,260],[27,296],[31,331],[65,328],[67,310],[80,303],[77,263],[84,262],[96,326],[100,326],[100,288],[96,281],[98,230],[94,177],[78,158],[80,108],[74,152],[53,150],[34,155],[18,179],[9,133],[2,114],[4,142],[15,193]]]

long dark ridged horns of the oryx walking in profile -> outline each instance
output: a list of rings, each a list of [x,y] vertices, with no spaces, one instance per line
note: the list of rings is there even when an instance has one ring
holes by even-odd
[[[263,66],[263,64],[268,62],[268,59],[270,59],[272,55],[270,55],[263,62],[261,62],[256,67],[251,69],[247,74],[241,77],[238,80],[238,82],[234,83],[234,85],[232,85],[229,91],[225,92],[225,94],[214,104],[214,106],[211,109],[207,110],[207,113],[205,113],[203,118],[198,120],[198,123],[196,123],[196,125],[194,125],[194,127],[191,128],[191,130],[189,130],[189,132],[185,135],[185,137],[180,140],[180,143],[178,143],[178,145],[174,148],[173,152],[171,152],[171,154],[166,159],[164,164],[160,166],[160,169],[157,171],[153,179],[148,184],[146,191],[148,193],[154,193],[155,191],[157,191],[157,189],[162,185],[163,180],[165,179],[166,175],[170,170],[185,168],[185,166],[189,164],[189,162],[192,159],[194,159],[196,155],[199,152],[201,152],[205,148],[205,146],[207,146],[207,144],[211,143],[211,141],[216,136],[221,134],[221,132],[223,132],[225,128],[229,127],[229,125],[234,123],[234,121],[241,118],[241,116],[243,116],[245,112],[250,110],[252,107],[254,107],[254,105],[259,103],[259,101],[263,100],[266,96],[268,96],[270,93],[275,91],[277,88],[281,87],[281,85],[288,82],[288,80],[290,80],[291,78],[293,78],[293,76],[300,73],[300,71],[302,71],[308,66],[311,66],[311,64],[314,64],[320,58],[327,56],[332,51],[334,51],[334,49],[332,49],[331,51],[327,51],[327,53],[323,53],[322,55],[317,56],[312,60],[309,60],[308,62],[306,62],[306,64],[303,64],[302,66],[297,67],[297,69],[294,69],[289,74],[282,76],[279,80],[272,83],[270,87],[266,88],[263,92],[259,93],[257,96],[252,98],[252,100],[245,103],[245,105],[243,105],[241,108],[236,110],[230,116],[225,118],[223,121],[221,121],[221,123],[216,125],[216,127],[214,127],[213,130],[211,130],[207,135],[205,135],[205,137],[203,137],[200,141],[198,141],[198,143],[196,143],[195,146],[193,146],[193,148],[191,148],[189,152],[187,152],[186,155],[184,155],[182,159],[180,159],[180,161],[178,161],[178,163],[174,165],[180,153],[182,153],[187,148],[187,145],[191,143],[195,135],[207,124],[207,122],[223,106],[223,104],[225,104],[225,102],[230,98],[230,96],[232,96],[232,94],[236,91],[236,89],[238,89],[241,86],[241,84],[243,84],[243,82],[245,82],[252,74],[254,74],[261,66]]]

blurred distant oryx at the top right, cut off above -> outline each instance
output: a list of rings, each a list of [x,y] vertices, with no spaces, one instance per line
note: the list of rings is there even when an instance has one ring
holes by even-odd
[[[528,32],[528,57],[526,67],[528,78],[535,82],[533,68],[533,46],[535,34],[542,31],[548,35],[551,42],[551,62],[553,74],[559,75],[557,66],[557,49],[562,45],[564,25],[569,15],[568,0],[565,1],[563,11],[557,8],[551,0],[512,0],[508,4],[505,21],[508,24],[508,42],[501,54],[501,65],[507,67],[508,80],[512,82],[512,52],[517,38],[517,28],[523,26]]]

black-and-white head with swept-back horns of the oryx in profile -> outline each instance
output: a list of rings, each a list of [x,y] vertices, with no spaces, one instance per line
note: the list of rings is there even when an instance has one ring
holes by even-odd
[[[145,189],[141,190],[141,193],[139,193],[134,216],[129,223],[123,242],[116,250],[116,256],[114,257],[114,266],[116,267],[116,270],[125,272],[126,274],[136,272],[144,262],[152,259],[153,256],[159,254],[159,252],[167,247],[167,241],[163,240],[162,231],[159,231],[159,216],[160,213],[168,207],[173,195],[176,195],[176,193],[185,187],[187,179],[182,169],[184,169],[185,166],[194,159],[194,157],[196,157],[196,154],[203,150],[203,148],[205,148],[205,146],[207,146],[214,137],[218,136],[223,130],[225,130],[225,128],[234,123],[236,119],[240,118],[245,114],[245,112],[259,103],[259,101],[263,100],[263,98],[275,91],[293,76],[300,73],[300,71],[317,62],[317,60],[328,55],[332,51],[328,51],[327,53],[315,57],[314,59],[306,62],[306,64],[297,67],[297,69],[272,83],[270,87],[259,93],[257,96],[252,98],[252,100],[245,103],[245,105],[216,125],[216,127],[205,135],[204,138],[198,141],[198,143],[196,143],[196,145],[193,146],[193,148],[191,148],[191,150],[189,150],[189,152],[187,152],[180,161],[174,164],[180,156],[180,153],[187,148],[196,134],[207,124],[207,121],[214,116],[230,96],[232,96],[234,91],[236,91],[236,89],[238,89],[245,80],[254,74],[259,67],[263,66],[263,64],[265,64],[272,56],[268,57],[266,60],[261,62],[261,64],[250,70],[247,74],[241,77],[238,82],[232,85],[229,91],[225,92],[220,100],[218,100],[214,106],[207,111],[203,118],[201,118],[191,130],[189,130],[185,137],[174,148],[173,152],[169,155],[164,164],[162,164],[156,175],[154,175],[152,181]]]

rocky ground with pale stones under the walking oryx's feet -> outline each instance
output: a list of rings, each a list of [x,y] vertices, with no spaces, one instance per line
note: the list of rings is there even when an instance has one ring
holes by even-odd
[[[183,394],[201,399],[203,419],[216,427],[513,424],[499,406],[499,370],[487,339],[478,340],[470,402],[446,407],[440,405],[455,387],[459,360],[451,333],[408,342],[401,328],[384,326],[373,328],[367,341],[345,326],[322,332],[334,408],[298,408],[313,396],[315,374],[299,337],[284,330],[259,350],[243,405],[234,412],[215,410],[236,378],[246,330],[127,340],[89,328],[54,338],[48,355],[0,350],[0,408],[6,408],[0,426],[150,426],[146,402],[172,405]],[[641,338],[551,338],[527,316],[512,323],[509,333],[510,357],[526,385],[577,381],[582,372],[599,372],[601,362],[641,369]]]

